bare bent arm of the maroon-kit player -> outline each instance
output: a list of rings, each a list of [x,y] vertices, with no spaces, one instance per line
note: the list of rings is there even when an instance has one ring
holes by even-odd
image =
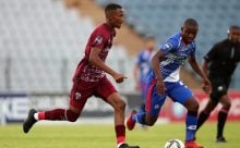
[[[127,78],[123,74],[117,73],[113,71],[111,67],[105,64],[104,61],[100,60],[99,54],[100,54],[100,49],[98,48],[93,48],[91,50],[89,54],[89,63],[101,69],[106,73],[110,74],[117,83],[122,83],[124,78]]]

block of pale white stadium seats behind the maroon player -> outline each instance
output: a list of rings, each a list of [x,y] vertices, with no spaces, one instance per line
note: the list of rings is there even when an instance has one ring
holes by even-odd
[[[67,10],[62,1],[1,0],[0,20],[0,90],[69,91],[94,28],[92,18]],[[120,54],[122,61],[127,53],[112,54],[110,64],[115,69]],[[10,70],[10,84],[5,82],[5,66]]]

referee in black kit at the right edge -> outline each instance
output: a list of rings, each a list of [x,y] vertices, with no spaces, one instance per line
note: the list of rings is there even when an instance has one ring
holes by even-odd
[[[224,137],[224,127],[231,107],[228,87],[239,61],[240,27],[233,25],[228,29],[228,38],[215,44],[204,57],[202,66],[211,81],[212,92],[205,108],[200,112],[196,130],[204,124],[216,106],[221,103],[217,120],[216,143],[227,141]]]

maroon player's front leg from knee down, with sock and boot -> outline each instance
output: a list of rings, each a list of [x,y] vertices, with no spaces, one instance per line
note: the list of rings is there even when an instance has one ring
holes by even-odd
[[[129,146],[128,144],[125,144],[125,102],[121,99],[118,92],[113,92],[112,95],[110,95],[107,98],[107,101],[115,109],[115,131],[118,148],[139,148],[139,146]]]

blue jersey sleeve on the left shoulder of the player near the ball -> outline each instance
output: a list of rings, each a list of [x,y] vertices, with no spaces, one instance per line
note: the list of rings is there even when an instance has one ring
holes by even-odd
[[[177,48],[178,48],[178,40],[175,38],[170,38],[160,46],[159,50],[163,51],[164,54],[168,54],[169,52],[177,50]]]

